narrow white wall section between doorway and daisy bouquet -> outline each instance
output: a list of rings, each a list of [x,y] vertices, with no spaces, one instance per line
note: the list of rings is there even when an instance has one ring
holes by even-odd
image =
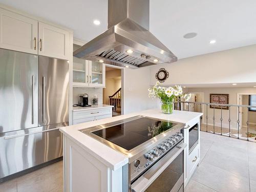
[[[150,69],[124,69],[124,114],[156,108],[159,100],[148,97]]]

